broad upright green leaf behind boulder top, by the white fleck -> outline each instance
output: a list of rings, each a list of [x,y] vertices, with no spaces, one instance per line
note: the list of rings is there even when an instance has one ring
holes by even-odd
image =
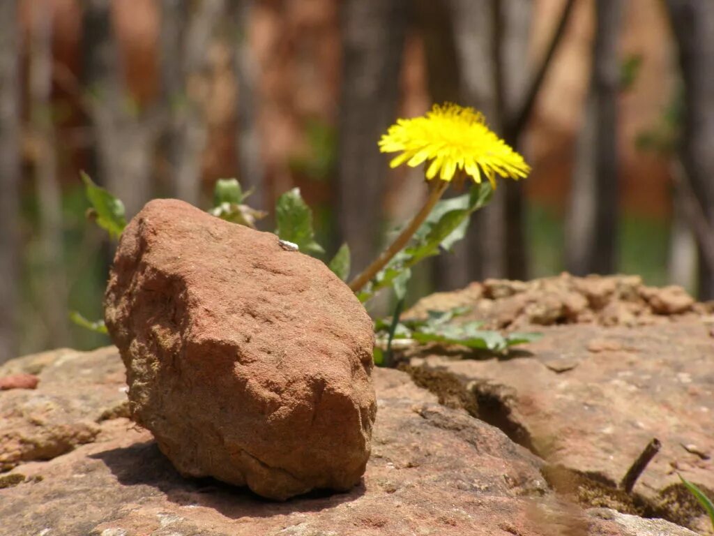
[[[315,242],[312,211],[300,195],[299,188],[293,188],[278,198],[276,219],[278,229],[275,234],[281,240],[296,244],[301,252],[308,255],[325,252],[321,245]]]

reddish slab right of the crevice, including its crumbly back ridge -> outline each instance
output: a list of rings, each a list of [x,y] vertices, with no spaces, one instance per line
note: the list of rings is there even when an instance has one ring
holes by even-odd
[[[411,349],[404,357],[417,382],[442,402],[466,408],[547,462],[583,477],[565,478],[581,502],[649,512],[705,532],[710,522],[693,519],[700,510],[677,473],[714,490],[714,317],[710,305],[695,304],[671,287],[633,282],[563,276],[528,284],[489,282],[479,293],[472,286],[443,294],[443,302],[432,296],[412,314],[472,304],[492,314],[482,318],[498,323],[503,311],[513,311],[508,303],[515,296],[528,294],[530,305],[510,322],[544,337],[506,359],[438,347]],[[573,289],[588,296],[588,305],[574,307],[579,312],[570,318],[563,316],[565,299],[554,296]],[[624,322],[629,327],[604,313],[623,304],[633,306]],[[538,314],[529,317],[536,305]],[[545,318],[556,325],[527,322],[542,324]],[[663,447],[635,485],[632,501],[615,487],[653,437]],[[557,486],[558,478],[552,483]]]

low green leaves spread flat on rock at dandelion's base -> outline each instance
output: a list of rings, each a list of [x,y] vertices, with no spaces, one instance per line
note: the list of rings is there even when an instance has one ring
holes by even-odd
[[[503,354],[510,347],[540,339],[540,333],[507,333],[481,329],[483,322],[465,322],[455,324],[451,321],[466,314],[469,307],[456,307],[448,311],[429,311],[425,319],[406,319],[395,322],[396,312],[391,322],[378,320],[375,331],[379,334],[388,332],[388,349],[394,339],[412,339],[417,342],[438,342],[440,344],[459,344],[472,349],[488,350]],[[383,358],[383,357],[382,357]]]

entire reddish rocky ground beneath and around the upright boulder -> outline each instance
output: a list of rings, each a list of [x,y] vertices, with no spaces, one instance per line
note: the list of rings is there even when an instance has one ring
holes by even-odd
[[[706,305],[632,278],[559,277],[475,284],[409,314],[463,304],[473,307],[465,320],[544,337],[503,358],[403,349],[406,372],[373,373],[378,416],[361,485],[286,502],[180,477],[149,432],[126,418],[116,349],[15,359],[0,367],[0,535],[710,530],[676,475],[714,490]],[[633,493],[619,490],[653,437],[662,450]]]

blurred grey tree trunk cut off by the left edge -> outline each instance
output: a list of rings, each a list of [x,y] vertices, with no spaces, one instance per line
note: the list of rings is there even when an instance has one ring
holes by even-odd
[[[19,1],[0,2],[0,364],[15,357],[20,287]]]

